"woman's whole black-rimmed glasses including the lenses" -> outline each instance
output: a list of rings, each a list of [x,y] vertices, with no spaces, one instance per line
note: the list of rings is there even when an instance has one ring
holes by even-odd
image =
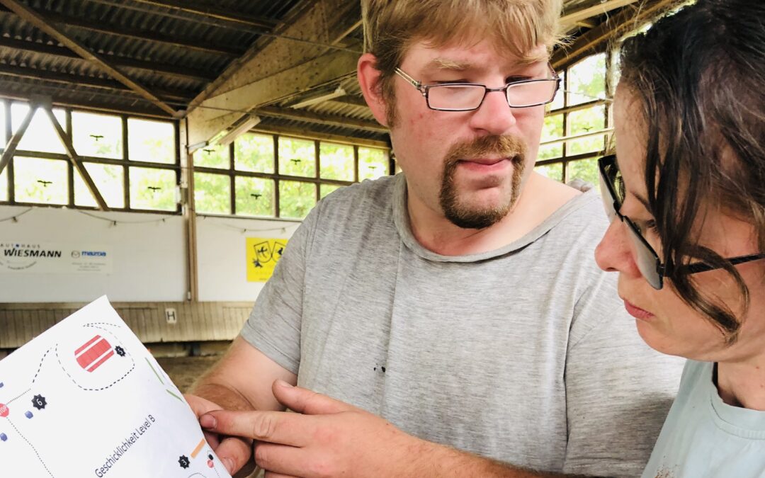
[[[632,239],[635,245],[636,263],[637,268],[640,269],[640,274],[646,278],[651,287],[661,289],[664,286],[664,277],[669,275],[672,265],[662,264],[659,255],[656,254],[653,247],[649,245],[646,238],[640,233],[640,228],[635,225],[632,219],[619,212],[624,201],[625,188],[616,160],[616,154],[609,154],[597,161],[598,169],[600,170],[601,197],[606,208],[606,214],[611,221],[614,220],[614,217],[618,217],[620,221],[627,224],[627,230],[630,231],[630,239]],[[725,260],[732,265],[738,265],[759,259],[765,259],[765,253],[740,255]],[[705,262],[695,262],[693,264],[676,266],[672,269],[672,273],[696,274],[718,268],[721,267],[708,265]]]

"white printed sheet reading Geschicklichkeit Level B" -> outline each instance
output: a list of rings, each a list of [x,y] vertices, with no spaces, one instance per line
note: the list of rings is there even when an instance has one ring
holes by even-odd
[[[230,478],[106,297],[0,361],[3,478]]]

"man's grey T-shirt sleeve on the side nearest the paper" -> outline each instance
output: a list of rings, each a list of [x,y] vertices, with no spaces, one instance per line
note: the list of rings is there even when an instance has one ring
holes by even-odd
[[[300,366],[305,264],[320,209],[321,201],[289,239],[241,332],[244,340],[295,374]]]

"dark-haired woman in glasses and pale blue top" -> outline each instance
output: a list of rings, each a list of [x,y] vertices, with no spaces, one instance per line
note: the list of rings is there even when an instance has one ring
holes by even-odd
[[[643,476],[765,476],[765,2],[698,0],[621,60],[595,255],[689,359]]]

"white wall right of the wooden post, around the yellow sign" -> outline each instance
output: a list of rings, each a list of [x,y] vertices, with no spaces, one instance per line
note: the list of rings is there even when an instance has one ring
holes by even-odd
[[[299,223],[265,219],[197,218],[200,301],[255,301],[262,282],[248,282],[246,239],[288,239]]]

